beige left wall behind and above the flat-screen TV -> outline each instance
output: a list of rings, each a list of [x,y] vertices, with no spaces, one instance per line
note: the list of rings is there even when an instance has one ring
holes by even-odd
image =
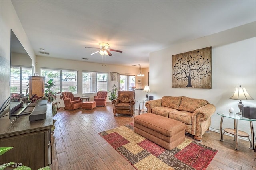
[[[10,96],[10,37],[11,29],[23,45],[24,49],[28,52],[32,59],[35,61],[35,54],[32,50],[28,37],[20,23],[20,20],[12,6],[11,1],[0,1],[0,22],[1,22],[1,43],[0,43],[0,104]]]

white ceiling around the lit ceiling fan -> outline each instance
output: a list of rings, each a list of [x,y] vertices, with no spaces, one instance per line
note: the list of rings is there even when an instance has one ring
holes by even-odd
[[[256,1],[12,0],[36,55],[149,66],[149,53],[256,21]],[[40,48],[50,55],[39,53]]]

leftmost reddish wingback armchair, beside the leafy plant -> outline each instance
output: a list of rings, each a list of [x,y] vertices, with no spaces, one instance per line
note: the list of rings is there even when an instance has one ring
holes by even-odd
[[[74,97],[72,92],[62,92],[61,94],[65,110],[74,110],[82,107],[82,100],[80,100],[80,97]]]

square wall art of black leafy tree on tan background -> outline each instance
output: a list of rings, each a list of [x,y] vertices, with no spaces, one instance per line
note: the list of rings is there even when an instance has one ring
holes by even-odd
[[[172,55],[173,88],[212,88],[212,47]]]

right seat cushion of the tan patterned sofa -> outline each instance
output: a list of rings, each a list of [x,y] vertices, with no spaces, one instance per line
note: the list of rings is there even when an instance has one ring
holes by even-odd
[[[169,118],[192,125],[192,115],[193,113],[188,111],[172,111],[169,113]]]

